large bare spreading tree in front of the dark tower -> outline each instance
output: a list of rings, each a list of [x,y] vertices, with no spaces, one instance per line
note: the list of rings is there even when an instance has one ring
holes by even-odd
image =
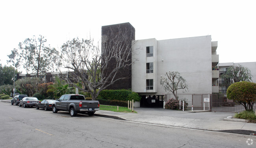
[[[119,33],[114,38],[103,37],[102,40],[101,51],[91,39],[74,38],[61,47],[63,65],[73,70],[69,72],[66,80],[79,90],[90,93],[93,100],[98,97],[100,91],[111,84],[127,79],[127,77],[116,77],[117,73],[136,61],[131,58],[134,43],[130,42],[130,36],[127,34]],[[126,46],[123,46],[124,43]],[[115,64],[115,68],[109,72],[110,64]],[[79,87],[81,85],[77,85],[78,83],[82,84],[82,87]]]

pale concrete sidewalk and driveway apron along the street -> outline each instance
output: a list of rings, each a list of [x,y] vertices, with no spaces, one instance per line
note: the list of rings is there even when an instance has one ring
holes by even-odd
[[[11,99],[1,100],[11,102]],[[192,128],[219,132],[256,134],[256,124],[247,123],[244,119],[232,119],[235,113],[226,112],[196,112],[165,110],[163,108],[134,108],[138,113],[121,113],[100,110],[94,114],[98,117],[148,123],[161,126]]]

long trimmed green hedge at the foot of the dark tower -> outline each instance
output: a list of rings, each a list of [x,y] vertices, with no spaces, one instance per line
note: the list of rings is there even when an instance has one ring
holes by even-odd
[[[121,100],[121,101],[140,101],[141,97],[138,93],[130,90],[102,90],[98,96],[100,99],[106,100]]]

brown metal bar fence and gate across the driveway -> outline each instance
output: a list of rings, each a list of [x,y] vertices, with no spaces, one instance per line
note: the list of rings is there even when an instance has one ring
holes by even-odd
[[[178,100],[185,100],[188,103],[188,110],[210,110],[221,112],[241,112],[245,110],[244,106],[234,100],[227,99],[226,94],[209,94],[209,93],[178,93]],[[166,94],[165,101],[174,98],[173,94]],[[209,98],[209,102],[204,102],[205,98]],[[256,104],[254,104],[256,109]]]

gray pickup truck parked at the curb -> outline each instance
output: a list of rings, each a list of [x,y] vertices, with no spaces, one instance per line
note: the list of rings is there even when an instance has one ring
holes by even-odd
[[[59,110],[69,111],[72,117],[77,113],[87,113],[92,116],[95,111],[100,110],[100,104],[95,100],[85,100],[83,95],[62,95],[52,104],[52,112],[57,113]]]

